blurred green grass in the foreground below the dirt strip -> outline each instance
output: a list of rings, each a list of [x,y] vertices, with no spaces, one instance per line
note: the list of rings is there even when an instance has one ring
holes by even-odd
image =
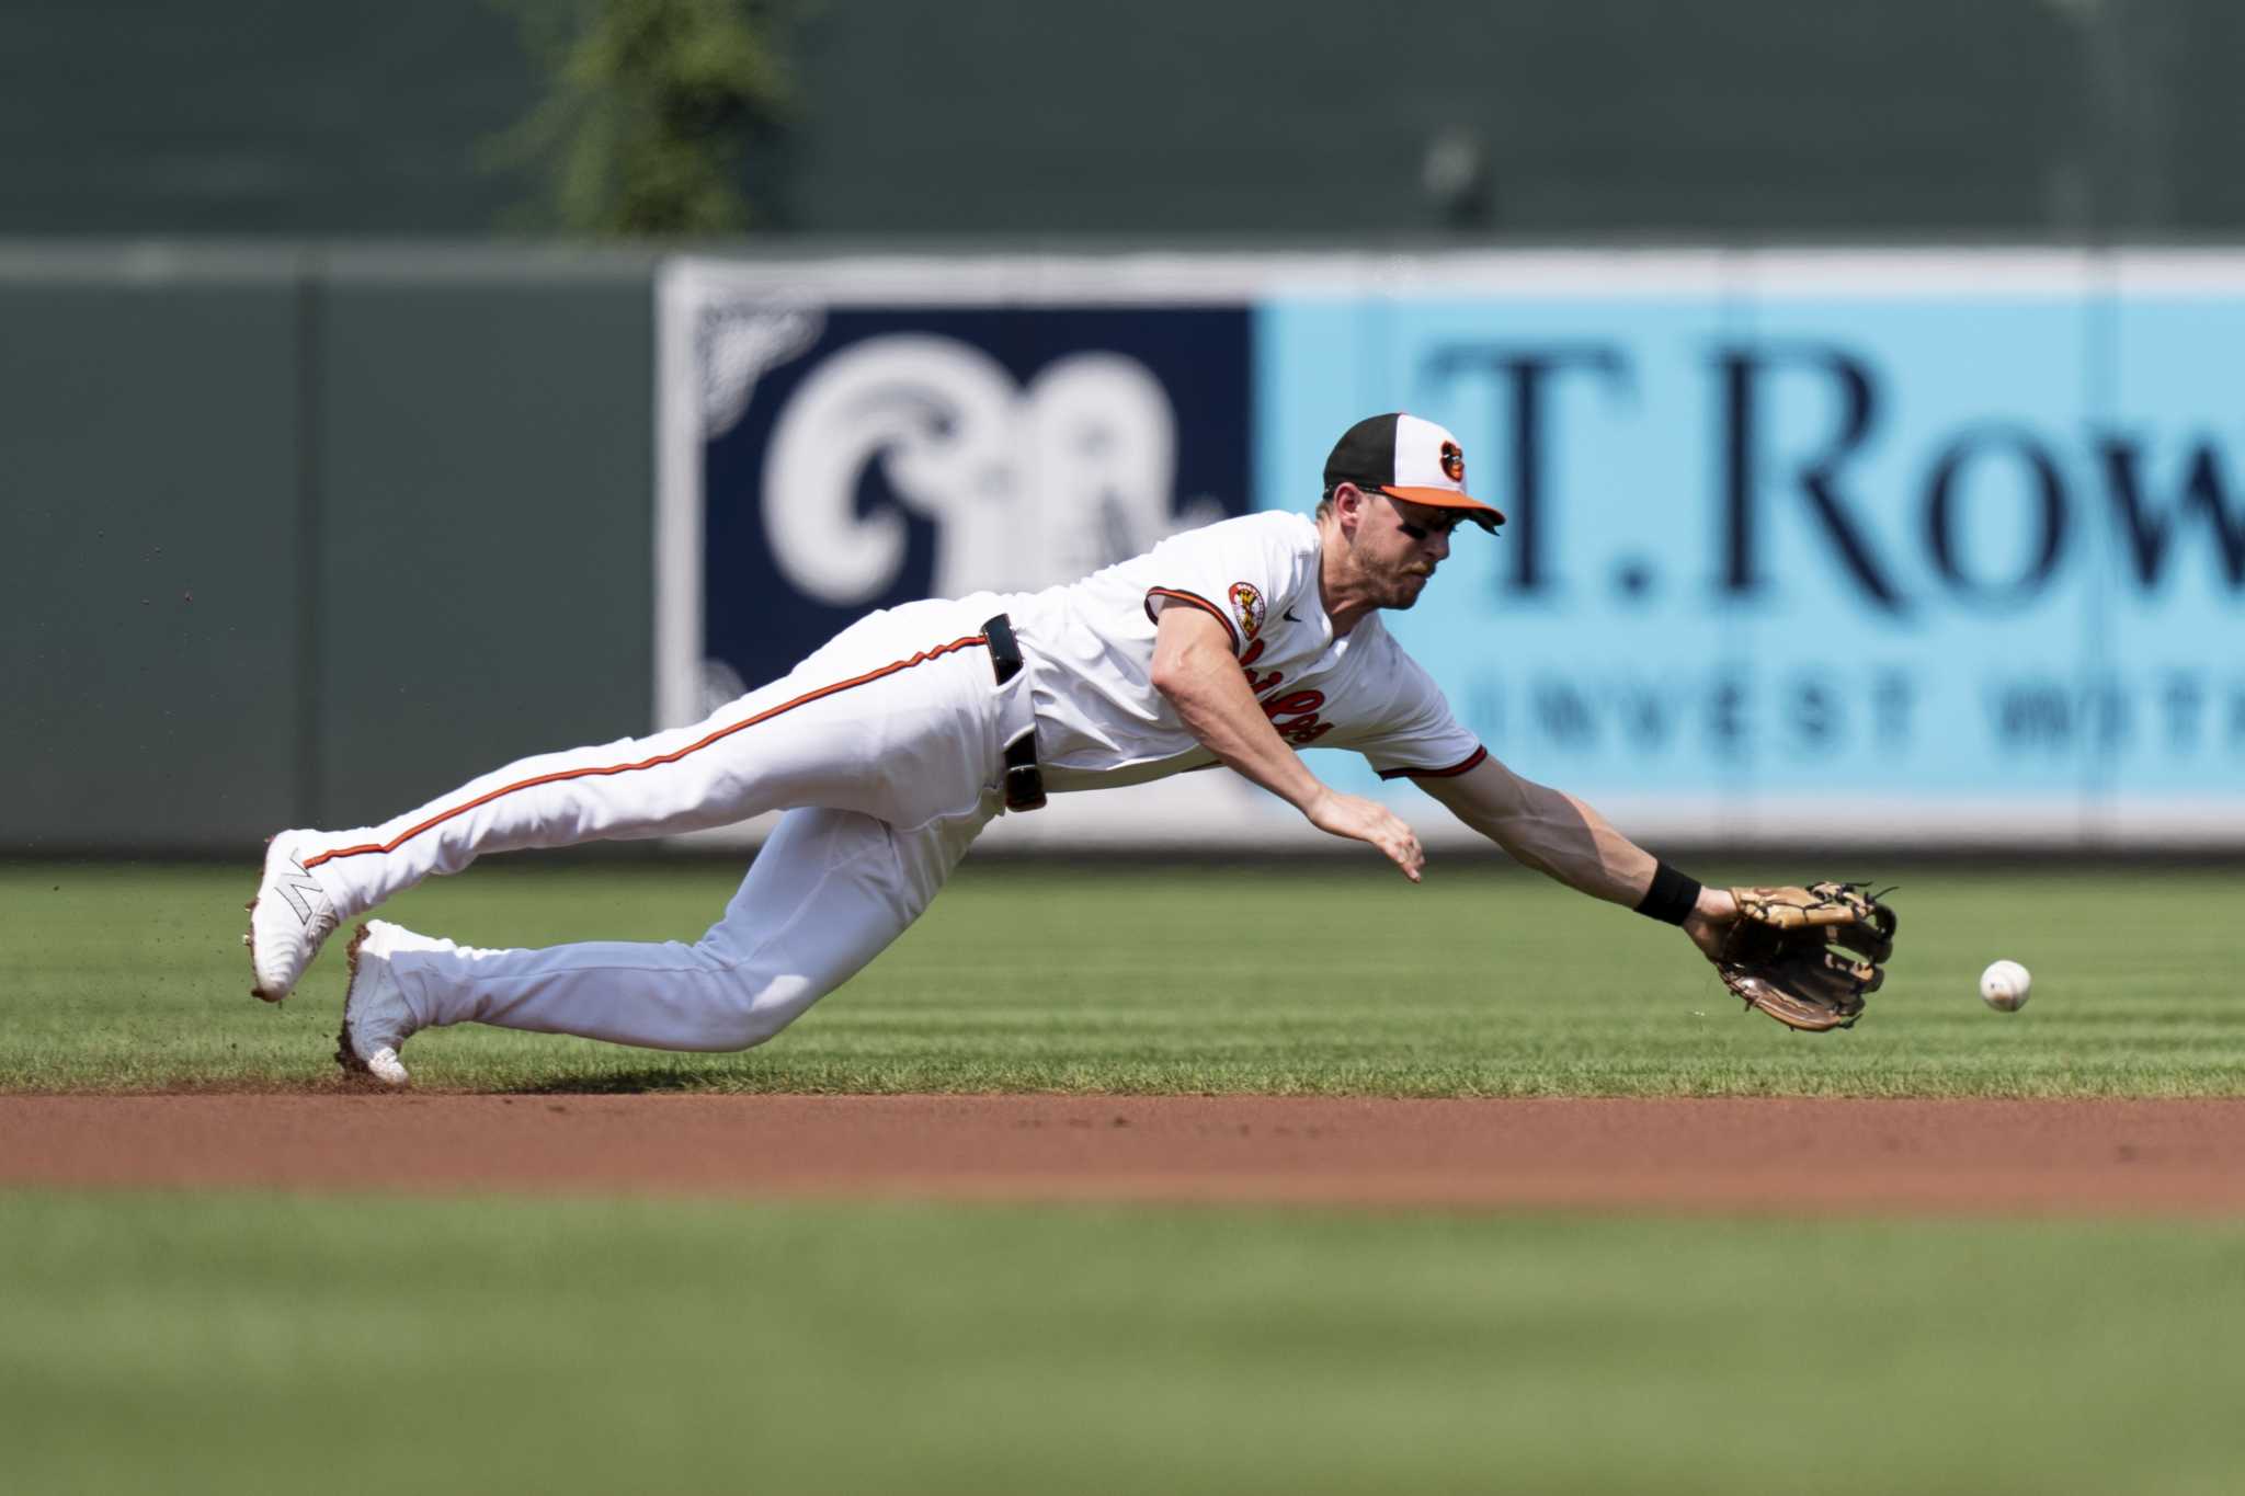
[[[2234,1492],[2245,1231],[0,1195],[40,1492]]]

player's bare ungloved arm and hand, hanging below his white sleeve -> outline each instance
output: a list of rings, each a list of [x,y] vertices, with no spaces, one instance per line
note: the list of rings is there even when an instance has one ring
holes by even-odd
[[[1318,830],[1369,841],[1403,877],[1419,881],[1426,852],[1417,832],[1385,805],[1340,794],[1302,765],[1255,704],[1217,619],[1199,608],[1163,610],[1154,628],[1154,689],[1176,707],[1185,731],[1228,767],[1300,810]]]

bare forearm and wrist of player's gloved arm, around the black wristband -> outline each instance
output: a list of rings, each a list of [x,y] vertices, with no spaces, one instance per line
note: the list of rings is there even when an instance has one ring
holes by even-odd
[[[1652,852],[1583,801],[1520,778],[1495,758],[1450,778],[1421,778],[1419,787],[1515,859],[1569,888],[1630,908],[1639,908],[1652,888],[1659,870]],[[1679,924],[1693,944],[1713,955],[1722,946],[1722,929],[1735,917],[1738,902],[1726,890],[1702,888]]]

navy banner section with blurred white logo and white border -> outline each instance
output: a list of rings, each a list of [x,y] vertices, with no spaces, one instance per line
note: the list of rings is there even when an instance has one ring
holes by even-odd
[[[979,267],[674,265],[662,285],[662,724],[858,617],[1075,581],[1246,514],[1253,307],[1165,280],[1024,296]],[[1192,837],[1217,776],[1062,798],[999,837]],[[725,841],[761,837],[763,825]]]

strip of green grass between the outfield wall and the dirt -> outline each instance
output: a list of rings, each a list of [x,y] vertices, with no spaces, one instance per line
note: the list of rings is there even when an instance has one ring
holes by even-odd
[[[1675,931],[1488,859],[1437,859],[1417,888],[1369,857],[970,861],[763,1050],[456,1027],[406,1056],[436,1088],[2245,1095],[2245,872],[1877,870],[1902,884],[1902,949],[1870,1016],[1830,1036],[1740,1014]],[[0,868],[0,1088],[326,1083],[341,940],[285,1009],[251,1000],[254,879]],[[386,913],[474,944],[694,940],[734,881],[721,864],[516,857]],[[2023,1014],[1973,994],[1998,955],[2036,973]]]

